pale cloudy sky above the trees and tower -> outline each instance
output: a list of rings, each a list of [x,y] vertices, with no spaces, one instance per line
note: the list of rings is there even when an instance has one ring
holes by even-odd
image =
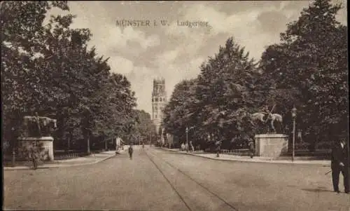
[[[168,99],[176,83],[200,73],[200,64],[233,36],[251,57],[279,42],[286,24],[297,20],[310,1],[69,1],[77,15],[73,28],[89,28],[90,46],[111,57],[111,71],[124,74],[137,96],[137,109],[151,114],[153,79],[165,78]],[[346,1],[338,21],[346,23]],[[56,11],[52,11],[56,13]],[[151,26],[121,27],[116,20],[150,20]],[[157,26],[154,26],[154,20]],[[169,26],[162,26],[167,20]],[[180,22],[208,22],[203,27]]]

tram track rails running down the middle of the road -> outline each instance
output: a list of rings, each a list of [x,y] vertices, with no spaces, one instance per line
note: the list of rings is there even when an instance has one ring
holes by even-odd
[[[164,158],[161,158],[160,156],[157,156],[157,155],[151,153],[150,151],[145,151],[145,154],[150,159],[151,163],[153,163],[153,165],[155,165],[155,168],[157,168],[158,171],[162,174],[162,176],[165,178],[167,183],[169,183],[169,185],[172,187],[174,192],[176,192],[176,194],[179,196],[181,201],[183,201],[183,203],[186,205],[188,210],[192,211],[192,210],[195,210],[195,209],[193,209],[193,207],[191,207],[190,200],[189,199],[186,200],[186,197],[183,196],[183,194],[181,194],[181,191],[179,191],[178,188],[176,188],[176,185],[174,185],[174,182],[170,181],[171,179],[169,179],[169,176],[167,177],[167,174],[165,173],[165,170],[164,169],[162,170],[162,168],[160,167],[161,163],[158,163],[158,162],[162,162],[162,163],[167,164],[170,168],[172,168],[172,170],[175,170],[176,172],[179,172],[181,175],[186,177],[190,182],[193,182],[196,186],[200,186],[200,189],[205,190],[207,193],[209,193],[208,195],[211,195],[211,197],[214,196],[214,198],[216,198],[216,200],[221,201],[222,206],[225,206],[226,210],[237,210],[237,208],[234,205],[231,205],[230,203],[228,203],[227,200],[225,200],[221,196],[218,196],[217,193],[214,193],[213,191],[211,191],[209,188],[207,188],[206,186],[204,186],[203,184],[198,182],[196,179],[194,179],[193,177],[188,175],[186,172],[183,172],[183,170],[180,170],[179,168],[176,168],[176,166],[172,165],[172,163],[169,163],[168,161],[165,161]],[[158,159],[159,161],[156,162],[155,158]],[[221,209],[218,209],[218,210],[225,210],[225,209],[221,208]]]

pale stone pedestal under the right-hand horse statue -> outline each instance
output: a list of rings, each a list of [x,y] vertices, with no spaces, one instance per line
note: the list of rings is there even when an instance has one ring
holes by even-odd
[[[279,157],[288,151],[288,136],[284,134],[255,135],[255,156]]]

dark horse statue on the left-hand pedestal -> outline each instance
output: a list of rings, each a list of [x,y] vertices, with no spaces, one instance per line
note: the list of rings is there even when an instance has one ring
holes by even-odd
[[[24,116],[24,135],[28,137],[50,136],[50,131],[57,128],[57,121],[46,116]]]

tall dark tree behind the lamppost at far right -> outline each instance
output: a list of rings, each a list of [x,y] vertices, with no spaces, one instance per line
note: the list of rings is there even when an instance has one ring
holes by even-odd
[[[312,141],[347,131],[347,27],[335,18],[340,8],[314,1],[262,55],[262,69],[276,87],[295,90],[285,107],[298,108],[298,125]]]

